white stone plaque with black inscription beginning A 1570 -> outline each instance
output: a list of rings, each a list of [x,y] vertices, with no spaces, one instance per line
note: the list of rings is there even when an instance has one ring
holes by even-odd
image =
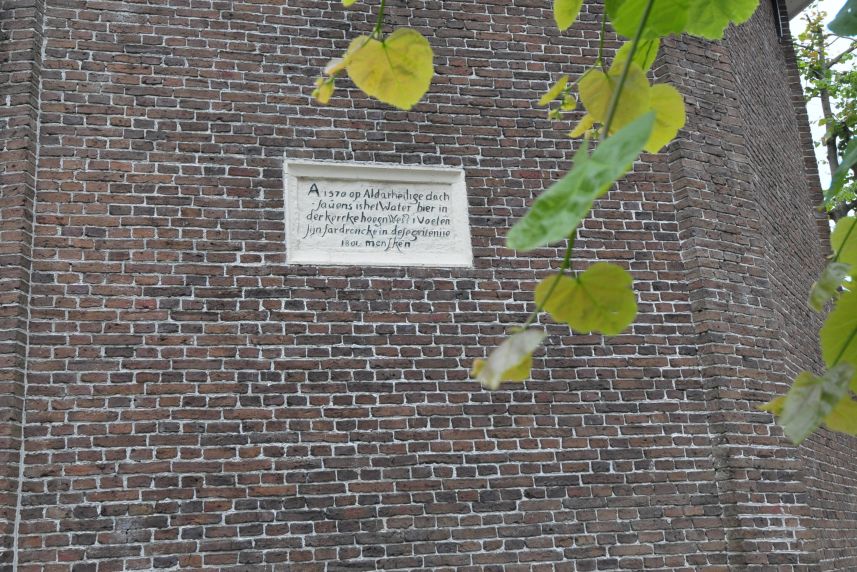
[[[472,266],[462,169],[284,163],[290,264]]]

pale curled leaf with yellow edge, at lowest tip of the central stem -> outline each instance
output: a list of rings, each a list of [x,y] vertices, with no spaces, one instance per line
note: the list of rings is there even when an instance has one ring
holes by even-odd
[[[504,381],[526,380],[533,366],[533,352],[545,336],[541,330],[526,330],[510,336],[487,360],[474,360],[472,375],[488,389],[497,389]]]

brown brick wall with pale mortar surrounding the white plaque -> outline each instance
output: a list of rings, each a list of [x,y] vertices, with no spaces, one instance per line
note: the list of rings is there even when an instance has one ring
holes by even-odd
[[[549,325],[533,381],[487,393],[472,359],[558,262],[503,246],[572,151],[534,102],[593,61],[597,4],[563,35],[549,2],[393,5],[438,71],[400,112],[310,101],[359,4],[45,3],[33,250],[4,269],[32,259],[19,570],[854,565],[853,440],[798,453],[753,409],[817,360],[817,181],[770,5],[668,42],[688,128],[579,233],[576,266],[634,274],[635,325]],[[286,265],[284,152],[464,167],[475,267]]]

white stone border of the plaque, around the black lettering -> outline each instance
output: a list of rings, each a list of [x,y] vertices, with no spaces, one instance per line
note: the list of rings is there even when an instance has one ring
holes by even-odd
[[[446,186],[452,211],[452,242],[447,252],[431,253],[369,253],[347,248],[306,250],[296,248],[292,239],[301,212],[298,206],[298,180],[319,178],[371,183],[422,183]],[[289,159],[283,161],[283,191],[286,218],[286,263],[317,266],[422,266],[422,267],[473,267],[473,250],[470,236],[470,216],[464,170],[453,167],[425,167],[391,165],[389,163],[309,161]],[[431,240],[431,239],[428,239]]]

